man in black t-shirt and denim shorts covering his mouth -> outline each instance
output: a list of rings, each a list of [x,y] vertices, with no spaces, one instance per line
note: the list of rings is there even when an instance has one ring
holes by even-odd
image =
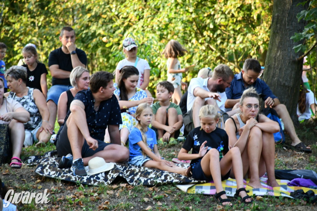
[[[75,31],[71,27],[64,27],[59,36],[62,47],[49,54],[49,71],[52,75],[52,87],[47,93],[47,106],[49,107],[49,123],[55,125],[57,103],[62,92],[72,88],[69,75],[72,69],[78,66],[86,67],[86,53],[76,48]]]

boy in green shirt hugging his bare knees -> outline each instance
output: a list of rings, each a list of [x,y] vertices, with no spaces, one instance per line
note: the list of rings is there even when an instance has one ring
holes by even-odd
[[[156,86],[158,102],[152,106],[152,129],[157,133],[158,144],[176,144],[179,129],[183,126],[182,111],[178,105],[170,102],[174,93],[171,82],[162,81]]]

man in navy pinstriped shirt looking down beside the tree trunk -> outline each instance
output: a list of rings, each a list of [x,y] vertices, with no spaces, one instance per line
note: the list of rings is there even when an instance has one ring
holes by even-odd
[[[263,99],[265,105],[268,107],[272,106],[279,118],[282,119],[285,131],[288,132],[289,137],[292,139],[291,145],[297,150],[312,152],[310,148],[306,147],[306,145],[298,138],[286,106],[281,104],[280,100],[273,94],[268,85],[258,78],[260,73],[260,62],[256,59],[247,59],[243,64],[241,73],[236,74],[231,82],[231,86],[226,88],[227,100],[225,102],[225,108],[230,110],[230,108],[239,104],[243,91],[251,86],[255,87],[256,92]]]

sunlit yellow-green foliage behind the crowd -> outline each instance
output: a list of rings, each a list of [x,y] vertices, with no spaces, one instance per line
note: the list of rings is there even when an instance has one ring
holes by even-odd
[[[268,48],[272,1],[269,0],[114,0],[114,1],[5,1],[1,41],[8,46],[5,61],[10,67],[22,58],[29,42],[36,44],[40,60],[61,46],[63,26],[76,31],[76,45],[88,56],[88,69],[113,72],[124,54],[122,40],[133,36],[139,57],[151,66],[150,90],[166,80],[166,43],[178,40],[189,53],[183,67],[197,64],[184,74],[187,80],[203,67],[225,63],[241,68],[248,57],[264,63]],[[48,79],[50,81],[50,79]]]

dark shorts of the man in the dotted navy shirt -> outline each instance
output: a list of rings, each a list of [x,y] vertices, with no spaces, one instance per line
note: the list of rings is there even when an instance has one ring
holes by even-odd
[[[62,128],[62,130],[59,134],[58,140],[56,142],[56,150],[57,150],[57,153],[60,157],[66,156],[69,153],[73,154],[72,149],[70,147],[69,139],[67,136],[67,129],[68,129],[67,125],[65,124],[64,127]],[[89,146],[85,140],[84,145],[81,148],[81,156],[82,157],[93,156],[95,153],[104,150],[105,147],[110,144],[110,143],[105,143],[105,142],[98,140],[98,139],[97,139],[97,141],[98,141],[98,148],[96,150],[93,150],[93,149],[89,149]]]

